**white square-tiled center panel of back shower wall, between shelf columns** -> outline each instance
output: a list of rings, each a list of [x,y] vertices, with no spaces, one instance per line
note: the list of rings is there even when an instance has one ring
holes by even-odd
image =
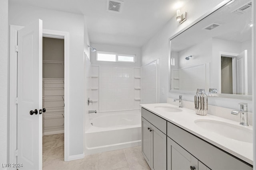
[[[100,111],[133,109],[133,68],[100,66]]]

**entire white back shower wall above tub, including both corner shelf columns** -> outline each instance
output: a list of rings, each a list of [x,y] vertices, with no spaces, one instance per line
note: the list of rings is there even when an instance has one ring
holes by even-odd
[[[140,109],[140,68],[91,66],[90,110],[100,112]]]

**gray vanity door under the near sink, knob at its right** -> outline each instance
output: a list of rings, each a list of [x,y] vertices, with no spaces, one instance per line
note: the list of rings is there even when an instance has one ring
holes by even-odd
[[[190,166],[198,170],[198,160],[168,137],[167,139],[168,170],[190,170]]]

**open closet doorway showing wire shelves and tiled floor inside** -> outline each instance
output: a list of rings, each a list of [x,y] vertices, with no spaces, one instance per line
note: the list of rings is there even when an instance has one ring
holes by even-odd
[[[42,47],[42,161],[64,159],[64,39],[44,37]]]

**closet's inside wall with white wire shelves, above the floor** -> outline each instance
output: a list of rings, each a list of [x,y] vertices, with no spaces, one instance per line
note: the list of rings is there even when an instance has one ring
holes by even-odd
[[[43,37],[43,135],[64,133],[64,39]]]

